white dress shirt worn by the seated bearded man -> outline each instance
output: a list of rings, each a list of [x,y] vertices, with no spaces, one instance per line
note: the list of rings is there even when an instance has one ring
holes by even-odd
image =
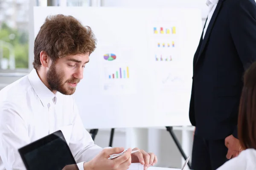
[[[0,91],[0,170],[24,170],[18,149],[57,130],[79,170],[102,150],[84,129],[73,96],[53,94],[33,69]]]

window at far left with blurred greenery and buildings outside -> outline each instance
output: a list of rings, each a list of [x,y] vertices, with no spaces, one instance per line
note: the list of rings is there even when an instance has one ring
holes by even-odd
[[[29,65],[29,0],[0,1],[0,71]]]

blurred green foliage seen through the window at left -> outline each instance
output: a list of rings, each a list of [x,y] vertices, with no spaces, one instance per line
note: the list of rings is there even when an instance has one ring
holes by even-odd
[[[15,67],[29,67],[29,35],[28,32],[10,28],[6,23],[0,26],[0,40],[12,44],[15,54]],[[9,49],[3,48],[3,57],[9,59]]]

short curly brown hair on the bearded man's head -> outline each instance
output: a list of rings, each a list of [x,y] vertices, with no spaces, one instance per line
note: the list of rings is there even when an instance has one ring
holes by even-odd
[[[40,52],[56,61],[68,55],[89,55],[96,48],[96,38],[89,26],[82,26],[76,18],[63,14],[48,16],[35,38],[33,66],[41,67]]]

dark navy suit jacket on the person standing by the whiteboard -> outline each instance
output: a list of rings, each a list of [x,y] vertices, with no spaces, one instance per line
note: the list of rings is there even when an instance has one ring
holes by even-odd
[[[219,0],[194,56],[189,119],[197,135],[237,136],[242,76],[255,60],[255,1]]]

